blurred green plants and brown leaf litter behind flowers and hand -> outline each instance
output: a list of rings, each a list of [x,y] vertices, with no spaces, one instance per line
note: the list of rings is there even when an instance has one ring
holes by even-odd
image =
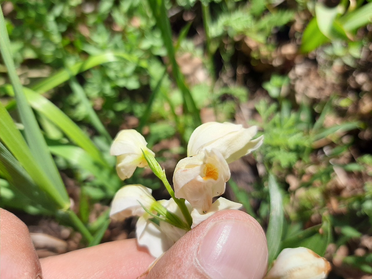
[[[305,246],[330,278],[372,273],[371,2],[1,8],[0,206],[49,241],[34,238],[39,256],[133,236],[131,220],[108,219],[120,129],[144,134],[171,180],[193,129],[230,121],[265,135],[231,164],[225,195],[262,224],[270,261]],[[148,170],[125,183],[166,195]]]

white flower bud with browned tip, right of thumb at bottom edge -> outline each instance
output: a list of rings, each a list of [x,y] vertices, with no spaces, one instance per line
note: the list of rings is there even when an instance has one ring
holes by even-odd
[[[330,263],[308,248],[285,248],[264,279],[324,279],[330,270]]]

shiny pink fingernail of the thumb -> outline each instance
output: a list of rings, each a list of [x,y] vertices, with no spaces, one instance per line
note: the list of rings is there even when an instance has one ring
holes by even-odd
[[[238,220],[216,222],[199,246],[197,259],[213,279],[262,278],[267,250],[263,233],[252,224]]]

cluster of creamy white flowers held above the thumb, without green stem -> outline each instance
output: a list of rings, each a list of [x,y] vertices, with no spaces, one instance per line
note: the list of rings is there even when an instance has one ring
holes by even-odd
[[[230,179],[228,163],[262,144],[263,137],[252,140],[256,133],[255,126],[245,129],[241,125],[217,122],[203,124],[192,133],[187,157],[179,161],[173,175],[174,196],[186,200],[185,205],[192,217],[188,229],[219,210],[241,207],[240,203],[222,197],[212,203],[212,198],[225,192],[226,182]],[[117,156],[116,171],[122,180],[131,177],[137,167],[148,165],[144,151],[154,155],[140,133],[133,129],[118,133],[110,154]],[[173,199],[155,201],[151,189],[142,185],[122,187],[112,201],[110,212],[111,218],[116,220],[139,217],[136,226],[138,243],[146,246],[154,257],[168,250],[187,232],[187,229],[168,222],[155,221],[150,212],[154,211],[157,203],[186,223]]]

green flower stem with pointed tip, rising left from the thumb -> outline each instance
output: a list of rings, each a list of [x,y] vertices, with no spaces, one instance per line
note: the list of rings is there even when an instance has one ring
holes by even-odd
[[[151,154],[148,150],[142,150],[142,153],[143,153],[143,155],[144,155],[144,157],[145,157],[145,159],[146,159],[146,161],[147,161],[148,166],[150,167],[150,169],[161,180],[161,182],[163,182],[163,184],[166,187],[169,195],[172,197],[172,199],[174,200],[174,202],[176,202],[176,204],[180,208],[183,217],[185,217],[185,220],[187,222],[187,225],[189,225],[191,227],[192,217],[191,217],[191,214],[189,212],[189,209],[187,208],[187,206],[185,204],[185,199],[177,199],[174,196],[174,191],[173,191],[172,187],[170,186],[170,184],[168,182],[168,179],[167,179],[167,177],[165,175],[165,171],[161,168],[161,166],[158,163],[158,161],[156,161],[156,159],[153,156],[153,154]]]

